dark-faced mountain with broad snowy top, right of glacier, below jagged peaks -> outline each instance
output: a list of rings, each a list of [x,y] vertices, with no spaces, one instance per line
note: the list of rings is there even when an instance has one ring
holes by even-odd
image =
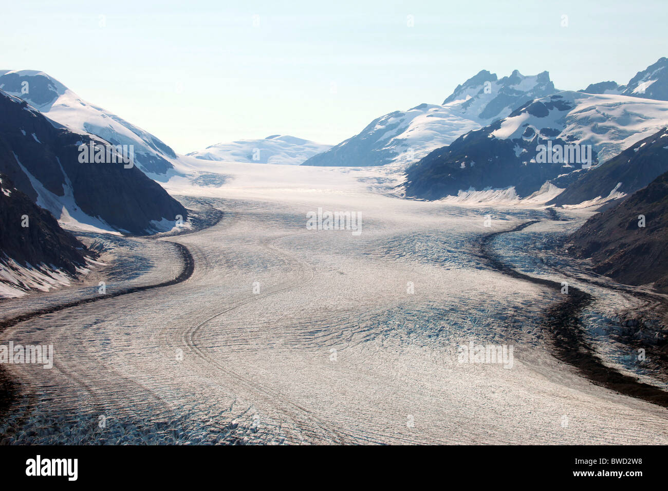
[[[525,197],[550,180],[565,188],[589,164],[613,158],[667,124],[665,101],[559,92],[528,102],[413,164],[405,192],[438,199],[513,188]]]

